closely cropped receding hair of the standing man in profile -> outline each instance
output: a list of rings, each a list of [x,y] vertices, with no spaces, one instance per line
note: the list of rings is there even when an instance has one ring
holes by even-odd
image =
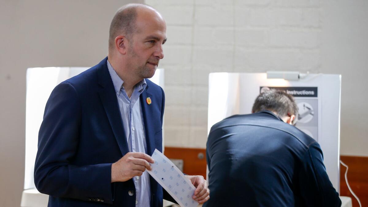
[[[132,37],[132,34],[137,32],[135,21],[137,20],[137,8],[146,7],[152,8],[146,4],[127,4],[120,7],[110,24],[109,31],[109,50],[111,50],[115,44],[115,38],[118,35],[124,35],[127,38]],[[152,8],[153,9],[153,8]]]

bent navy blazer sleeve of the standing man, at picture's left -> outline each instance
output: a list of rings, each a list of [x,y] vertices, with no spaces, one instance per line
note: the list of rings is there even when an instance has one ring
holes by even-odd
[[[77,152],[80,126],[81,102],[77,91],[70,83],[61,83],[46,103],[39,130],[34,171],[36,188],[50,196],[86,201],[102,199],[112,204],[111,163],[71,164]]]

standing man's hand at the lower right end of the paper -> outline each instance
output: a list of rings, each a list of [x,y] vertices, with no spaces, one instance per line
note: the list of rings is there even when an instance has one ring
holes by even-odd
[[[196,187],[194,191],[193,199],[198,201],[198,203],[204,203],[209,199],[209,189],[208,183],[201,175],[186,175],[187,178],[190,179],[194,187]]]

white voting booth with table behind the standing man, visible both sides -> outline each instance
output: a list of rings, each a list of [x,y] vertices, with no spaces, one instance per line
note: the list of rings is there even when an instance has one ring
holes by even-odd
[[[26,74],[26,137],[25,175],[22,207],[45,207],[49,196],[39,193],[35,187],[33,171],[40,129],[47,99],[57,84],[89,69],[89,67],[37,67],[27,69]],[[164,87],[164,69],[157,69],[150,78]],[[162,138],[164,138],[162,136]],[[162,144],[164,141],[162,141]]]

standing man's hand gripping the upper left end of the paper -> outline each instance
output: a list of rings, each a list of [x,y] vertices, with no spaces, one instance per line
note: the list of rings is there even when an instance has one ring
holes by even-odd
[[[148,162],[154,162],[151,156],[142,152],[128,152],[112,164],[111,182],[124,182],[134,176],[141,176],[146,169],[152,169]]]

